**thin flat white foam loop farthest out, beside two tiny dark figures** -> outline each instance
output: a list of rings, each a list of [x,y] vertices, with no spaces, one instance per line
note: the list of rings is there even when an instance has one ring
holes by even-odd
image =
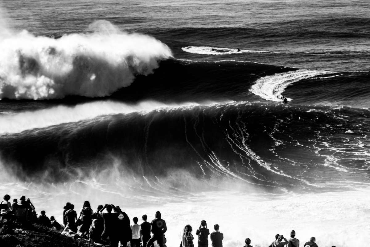
[[[188,53],[204,54],[204,55],[224,55],[224,54],[236,54],[236,53],[279,53],[275,51],[256,51],[256,50],[238,51],[238,49],[209,47],[209,46],[188,46],[188,47],[182,47],[181,49]]]

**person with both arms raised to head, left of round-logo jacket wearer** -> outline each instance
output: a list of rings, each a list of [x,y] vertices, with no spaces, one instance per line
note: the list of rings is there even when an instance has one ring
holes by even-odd
[[[104,209],[107,209],[108,213],[102,213]],[[118,246],[118,213],[112,213],[112,208],[114,205],[112,204],[105,204],[104,207],[100,210],[100,215],[104,219],[104,231],[101,234],[101,238],[105,240],[109,237],[110,246],[117,247]]]

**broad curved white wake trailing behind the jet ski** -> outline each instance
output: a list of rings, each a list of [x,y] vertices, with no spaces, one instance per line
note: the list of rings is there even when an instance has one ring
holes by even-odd
[[[255,84],[250,87],[249,91],[270,101],[282,101],[281,96],[287,86],[297,81],[308,79],[323,74],[332,74],[330,71],[317,70],[295,70],[285,73],[277,73],[272,76],[265,76],[256,80]],[[288,101],[292,99],[287,99]]]

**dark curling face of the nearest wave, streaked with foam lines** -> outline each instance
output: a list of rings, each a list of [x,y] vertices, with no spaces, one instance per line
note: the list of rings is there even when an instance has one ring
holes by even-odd
[[[204,181],[325,190],[368,181],[369,114],[246,102],[172,107],[8,134],[0,149],[26,180],[74,180],[118,159],[118,170],[147,181],[181,170]]]

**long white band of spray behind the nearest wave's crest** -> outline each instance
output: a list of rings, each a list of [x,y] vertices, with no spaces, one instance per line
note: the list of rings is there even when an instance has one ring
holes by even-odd
[[[226,102],[224,102],[226,103]],[[220,104],[203,103],[204,106]],[[158,109],[176,109],[199,106],[198,103],[164,104],[156,101],[143,101],[138,104],[125,104],[114,101],[96,101],[78,104],[74,107],[57,106],[37,111],[26,111],[0,117],[0,134],[19,133],[33,128],[46,128],[62,123],[73,123],[94,119],[98,116],[128,114],[133,112],[148,113]]]

